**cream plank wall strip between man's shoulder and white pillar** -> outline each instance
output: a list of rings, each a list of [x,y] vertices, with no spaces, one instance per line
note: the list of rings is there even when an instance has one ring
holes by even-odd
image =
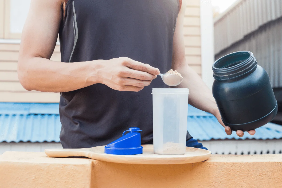
[[[187,0],[184,42],[186,61],[201,76],[200,0]]]

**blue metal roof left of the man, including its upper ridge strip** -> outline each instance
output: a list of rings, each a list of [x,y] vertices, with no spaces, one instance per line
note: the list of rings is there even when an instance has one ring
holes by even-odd
[[[59,104],[0,103],[0,142],[60,142]]]

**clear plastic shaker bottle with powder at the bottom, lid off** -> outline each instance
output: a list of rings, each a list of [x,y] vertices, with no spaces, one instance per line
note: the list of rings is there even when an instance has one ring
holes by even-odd
[[[152,94],[154,153],[185,154],[189,89],[153,88]]]

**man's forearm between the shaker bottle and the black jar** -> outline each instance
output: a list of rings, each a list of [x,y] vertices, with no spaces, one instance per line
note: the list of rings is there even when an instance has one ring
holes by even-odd
[[[212,96],[211,90],[202,81],[201,77],[187,65],[187,63],[182,63],[180,67],[173,67],[182,76],[183,81],[177,87],[179,88],[189,88],[189,104],[201,109],[206,112],[214,114],[217,111],[217,105],[215,99]]]

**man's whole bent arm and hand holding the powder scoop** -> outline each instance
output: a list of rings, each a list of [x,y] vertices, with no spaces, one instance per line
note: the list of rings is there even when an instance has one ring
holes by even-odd
[[[62,19],[63,0],[32,0],[22,32],[18,77],[27,90],[67,92],[96,83],[139,91],[159,74],[157,68],[127,57],[76,63],[51,61]]]

